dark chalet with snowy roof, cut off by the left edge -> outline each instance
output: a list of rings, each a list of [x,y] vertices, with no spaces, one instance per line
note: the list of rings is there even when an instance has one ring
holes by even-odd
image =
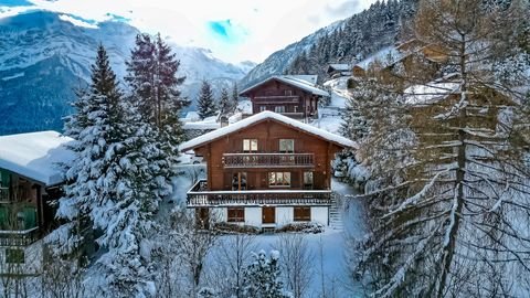
[[[42,237],[52,228],[61,196],[61,162],[73,159],[71,138],[55,131],[0,137],[0,274],[35,273]],[[12,265],[12,266],[11,266]]]

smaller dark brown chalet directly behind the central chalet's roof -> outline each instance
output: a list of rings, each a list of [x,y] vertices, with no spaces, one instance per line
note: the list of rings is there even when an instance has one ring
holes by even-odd
[[[316,75],[276,75],[244,89],[240,96],[251,99],[254,114],[272,110],[308,119],[317,115],[318,102],[330,97],[316,83]]]

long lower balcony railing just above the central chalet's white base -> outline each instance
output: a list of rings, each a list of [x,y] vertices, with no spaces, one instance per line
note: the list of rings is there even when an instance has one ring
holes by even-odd
[[[330,205],[330,190],[208,191],[200,180],[188,191],[188,206],[223,205]]]

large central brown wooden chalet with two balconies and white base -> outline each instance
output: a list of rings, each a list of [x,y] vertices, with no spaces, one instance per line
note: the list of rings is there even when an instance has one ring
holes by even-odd
[[[328,224],[331,160],[354,147],[343,137],[273,111],[255,114],[181,145],[206,161],[208,179],[188,192],[199,216],[276,228]]]

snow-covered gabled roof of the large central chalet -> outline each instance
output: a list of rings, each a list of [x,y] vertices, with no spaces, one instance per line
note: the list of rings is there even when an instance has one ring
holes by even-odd
[[[204,143],[211,142],[213,140],[216,140],[219,138],[222,138],[226,135],[233,134],[237,130],[244,129],[246,127],[250,127],[256,123],[266,120],[266,119],[273,119],[278,123],[285,124],[290,127],[295,127],[297,129],[300,129],[303,131],[306,131],[307,134],[317,136],[319,138],[326,139],[328,141],[335,142],[337,145],[343,146],[343,147],[352,147],[357,148],[357,143],[353,142],[350,139],[347,139],[344,137],[328,132],[324,129],[316,128],[311,125],[308,124],[303,124],[298,120],[295,120],[293,118],[289,118],[287,116],[283,116],[280,114],[276,114],[271,110],[265,110],[259,114],[255,114],[246,119],[243,119],[241,121],[237,121],[235,124],[225,126],[223,128],[220,128],[218,130],[208,132],[205,135],[202,135],[198,138],[194,138],[192,140],[189,140],[180,146],[180,151],[188,151],[190,149],[197,148],[199,146],[202,146]]]

